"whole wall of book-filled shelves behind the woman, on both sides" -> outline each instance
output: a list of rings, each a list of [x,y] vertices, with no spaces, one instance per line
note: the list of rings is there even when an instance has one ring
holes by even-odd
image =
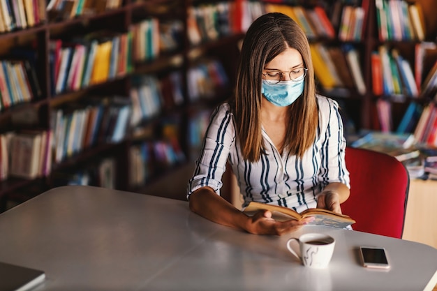
[[[388,6],[394,0],[101,0],[85,5],[79,0],[53,0],[47,7],[40,0],[35,1],[37,17],[31,25],[24,28],[22,18],[18,25],[18,16],[13,16],[8,22],[15,23],[11,29],[0,15],[1,61],[27,73],[33,93],[31,100],[23,94],[9,103],[2,100],[0,140],[8,140],[10,132],[40,130],[50,131],[54,144],[51,163],[45,166],[50,171],[41,167],[46,174],[23,179],[8,176],[1,167],[0,200],[4,204],[23,193],[42,193],[67,183],[158,193],[168,181],[180,181],[168,195],[184,199],[185,177],[192,172],[207,116],[232,94],[239,41],[255,17],[273,10],[289,14],[306,30],[313,59],[318,59],[318,89],[339,101],[347,135],[361,129],[382,130],[387,123],[389,130],[396,130],[410,104],[425,107],[435,92],[415,96],[408,89],[400,94],[376,90],[372,57],[385,49],[390,57],[403,57],[415,73],[418,47],[436,44],[437,6],[432,0],[397,1],[421,7],[424,35],[383,38],[378,24],[381,2]],[[110,59],[99,66],[103,73],[93,75],[91,70],[87,81],[85,73],[80,79],[69,71],[59,77],[58,60],[63,58],[57,56],[68,55],[64,49],[69,49],[70,63],[82,60],[75,62],[73,72],[80,71],[81,62],[87,68],[91,47],[98,50],[98,59]],[[117,54],[112,54],[114,47]],[[436,59],[434,50],[429,52],[422,79]],[[17,64],[17,59],[27,63]],[[19,79],[15,82],[21,84]],[[2,98],[7,93],[1,91]],[[381,108],[387,110],[382,115]],[[107,116],[106,127],[98,128],[93,140],[89,136],[98,129],[92,128],[89,116],[96,121],[99,110]],[[71,124],[82,132],[80,141],[65,129]],[[3,142],[0,146],[3,149]]]

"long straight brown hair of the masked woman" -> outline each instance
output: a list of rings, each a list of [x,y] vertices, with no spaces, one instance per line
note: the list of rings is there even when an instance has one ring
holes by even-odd
[[[318,126],[318,107],[313,63],[304,31],[287,15],[267,13],[258,17],[244,37],[237,67],[235,97],[231,102],[243,156],[258,161],[262,151],[261,82],[265,64],[291,47],[308,68],[302,96],[288,107],[284,147],[299,157],[313,144]]]

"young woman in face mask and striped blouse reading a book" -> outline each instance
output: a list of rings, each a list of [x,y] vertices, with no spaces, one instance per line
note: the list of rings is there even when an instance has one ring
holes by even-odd
[[[188,183],[190,209],[253,234],[281,235],[312,221],[279,222],[270,211],[246,216],[233,207],[219,195],[228,162],[243,206],[258,201],[341,213],[349,196],[345,147],[337,103],[316,94],[304,32],[286,15],[262,15],[244,38],[234,98],[212,114]]]

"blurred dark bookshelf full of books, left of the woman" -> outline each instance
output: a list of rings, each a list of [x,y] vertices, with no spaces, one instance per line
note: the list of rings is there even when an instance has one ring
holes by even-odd
[[[15,2],[0,3],[0,211],[65,184],[141,193],[192,163],[188,124],[232,91],[233,1],[40,0],[24,17]],[[212,12],[220,27],[188,33]]]

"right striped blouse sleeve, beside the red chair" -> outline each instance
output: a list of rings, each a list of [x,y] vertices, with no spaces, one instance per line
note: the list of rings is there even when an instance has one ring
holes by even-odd
[[[321,99],[321,100],[320,100]],[[324,186],[332,182],[340,182],[350,188],[349,172],[346,168],[346,139],[343,121],[339,112],[339,104],[330,98],[319,98],[321,110],[321,133],[323,137],[322,164],[320,177]]]

